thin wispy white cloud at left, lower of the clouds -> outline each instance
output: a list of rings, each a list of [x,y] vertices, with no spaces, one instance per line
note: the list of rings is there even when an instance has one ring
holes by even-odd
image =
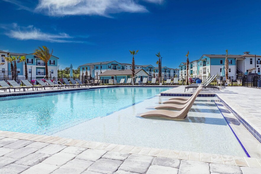
[[[6,26],[2,28],[5,29]],[[15,38],[18,40],[38,40],[58,43],[80,42],[72,40],[73,37],[69,36],[66,33],[44,33],[33,25],[21,27],[18,26],[17,23],[13,23],[8,28],[9,30],[6,31],[4,34],[10,38]]]

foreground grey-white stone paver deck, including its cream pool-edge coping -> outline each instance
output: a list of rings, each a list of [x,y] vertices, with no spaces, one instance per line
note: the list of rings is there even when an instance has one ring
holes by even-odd
[[[31,141],[28,140],[29,137],[32,137],[32,134],[0,131],[0,173],[258,174],[261,172],[261,160],[255,158],[235,156],[224,158],[224,155],[218,154],[133,146],[127,150],[125,149],[127,146],[120,148],[123,145],[69,138],[46,143],[45,141],[49,141],[51,136],[36,135],[36,139]],[[67,146],[63,142],[71,144]],[[99,146],[91,146],[92,144]],[[143,153],[140,154],[143,149]],[[207,156],[209,160],[206,160]],[[227,165],[228,162],[231,165]]]

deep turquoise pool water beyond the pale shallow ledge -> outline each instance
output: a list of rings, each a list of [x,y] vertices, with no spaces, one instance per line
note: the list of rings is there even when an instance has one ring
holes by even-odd
[[[109,115],[169,87],[125,87],[0,98],[0,130],[50,135]]]

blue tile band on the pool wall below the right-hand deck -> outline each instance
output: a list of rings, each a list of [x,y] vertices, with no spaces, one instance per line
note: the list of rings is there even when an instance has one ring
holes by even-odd
[[[218,99],[220,99],[219,96],[217,96]],[[257,132],[251,125],[249,125],[249,123],[247,123],[246,120],[244,120],[236,111],[234,111],[234,109],[232,109],[228,104],[226,104],[222,99],[220,99],[220,101],[225,105],[225,107],[227,107],[230,112],[232,112],[236,118],[240,121],[240,123],[242,123],[247,130],[252,133],[252,135],[257,138],[257,140],[261,143],[261,134],[259,132]]]

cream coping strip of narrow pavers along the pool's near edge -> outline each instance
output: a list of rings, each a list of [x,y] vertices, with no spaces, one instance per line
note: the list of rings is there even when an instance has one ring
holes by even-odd
[[[240,167],[261,168],[261,159],[239,157],[232,155],[220,155],[210,153],[200,153],[191,151],[179,151],[171,149],[156,149],[150,147],[128,146],[121,144],[110,144],[95,141],[77,140],[72,138],[62,138],[58,136],[44,136],[30,133],[20,133],[11,131],[0,131],[0,137],[15,138],[20,140],[29,140],[35,142],[44,142],[50,144],[60,144],[65,146],[83,147],[88,149],[106,150],[112,152],[139,154],[153,157],[166,157],[179,160],[192,160],[207,163],[219,163],[226,165],[235,165]]]

